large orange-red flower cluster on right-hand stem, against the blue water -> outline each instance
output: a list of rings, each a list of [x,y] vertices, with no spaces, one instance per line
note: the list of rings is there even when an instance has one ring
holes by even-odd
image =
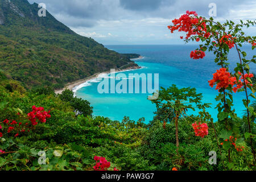
[[[231,74],[226,71],[226,68],[220,68],[213,74],[213,79],[208,82],[211,87],[217,83],[216,90],[220,91],[221,88],[227,88],[229,85],[233,87],[237,82],[237,78],[232,77]]]

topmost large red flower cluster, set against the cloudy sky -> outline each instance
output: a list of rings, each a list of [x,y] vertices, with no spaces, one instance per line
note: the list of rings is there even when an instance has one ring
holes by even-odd
[[[209,38],[210,36],[204,19],[197,17],[195,11],[186,11],[186,14],[181,15],[179,19],[172,20],[172,23],[174,26],[168,26],[171,33],[175,30],[187,32],[185,39],[188,39],[191,35],[204,36],[204,38]],[[198,42],[199,40],[200,38],[197,38],[196,41]]]

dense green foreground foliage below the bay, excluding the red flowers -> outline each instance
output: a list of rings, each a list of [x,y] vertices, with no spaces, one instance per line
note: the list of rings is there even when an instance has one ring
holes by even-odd
[[[154,119],[146,125],[143,118],[122,122],[104,117],[93,117],[88,101],[72,97],[65,90],[56,96],[51,89],[26,91],[19,82],[7,79],[1,73],[0,125],[5,119],[28,122],[30,131],[3,133],[0,142],[0,169],[5,170],[93,170],[94,156],[104,156],[111,163],[109,170],[225,170],[227,151],[217,145],[214,129],[209,125],[209,134],[196,137],[192,123],[200,115],[179,118],[179,155],[176,151],[174,114],[167,118],[163,109],[158,109]],[[146,99],[146,98],[145,98]],[[80,104],[75,104],[80,102]],[[32,106],[50,110],[46,123],[30,126],[27,114]],[[78,107],[77,107],[78,106]],[[255,108],[255,105],[254,105]],[[82,111],[83,113],[77,112]],[[18,113],[18,114],[17,114]],[[237,119],[240,134],[245,131],[242,119]],[[22,125],[23,126],[23,125]],[[218,122],[214,123],[221,133]],[[255,127],[253,128],[255,134]],[[233,170],[253,170],[253,155],[246,140],[237,143],[242,152],[232,151]],[[40,151],[46,152],[46,164],[39,165]],[[209,164],[209,151],[216,151],[217,164]]]

